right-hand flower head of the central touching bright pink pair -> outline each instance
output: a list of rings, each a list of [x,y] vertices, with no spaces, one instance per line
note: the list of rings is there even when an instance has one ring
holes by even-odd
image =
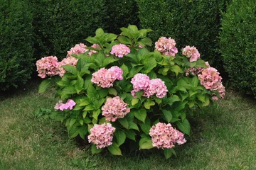
[[[164,81],[161,79],[151,79],[149,81],[149,86],[147,86],[146,90],[144,91],[144,96],[149,98],[156,94],[156,97],[163,98],[167,94],[167,88],[164,84]]]

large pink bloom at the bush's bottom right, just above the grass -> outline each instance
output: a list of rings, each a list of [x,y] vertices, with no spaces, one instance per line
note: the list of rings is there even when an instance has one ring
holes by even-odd
[[[167,125],[165,123],[157,123],[151,127],[149,135],[151,136],[153,147],[157,147],[158,149],[170,149],[176,143],[182,145],[186,142],[183,133],[173,128],[171,123]]]

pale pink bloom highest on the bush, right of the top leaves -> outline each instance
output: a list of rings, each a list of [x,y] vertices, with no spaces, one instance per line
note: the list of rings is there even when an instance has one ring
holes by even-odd
[[[174,39],[161,37],[158,41],[155,42],[155,48],[164,55],[172,55],[178,52],[178,49],[175,47],[176,42]]]

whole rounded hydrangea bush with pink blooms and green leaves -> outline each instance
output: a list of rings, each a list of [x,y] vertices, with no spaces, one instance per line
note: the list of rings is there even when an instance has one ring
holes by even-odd
[[[68,51],[65,59],[43,57],[36,62],[44,79],[39,92],[55,86],[60,101],[50,118],[60,120],[70,137],[80,136],[91,144],[92,154],[107,147],[132,142],[137,149],[157,147],[166,158],[190,135],[188,115],[193,108],[223,98],[220,74],[200,59],[196,47],[178,51],[176,42],[161,37],[152,44],[150,29],[121,28],[120,35],[104,33]]]

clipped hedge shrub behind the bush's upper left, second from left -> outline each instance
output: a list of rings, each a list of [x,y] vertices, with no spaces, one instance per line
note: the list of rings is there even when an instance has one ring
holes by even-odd
[[[33,0],[36,58],[61,59],[96,28],[104,28],[104,5],[104,0]]]

